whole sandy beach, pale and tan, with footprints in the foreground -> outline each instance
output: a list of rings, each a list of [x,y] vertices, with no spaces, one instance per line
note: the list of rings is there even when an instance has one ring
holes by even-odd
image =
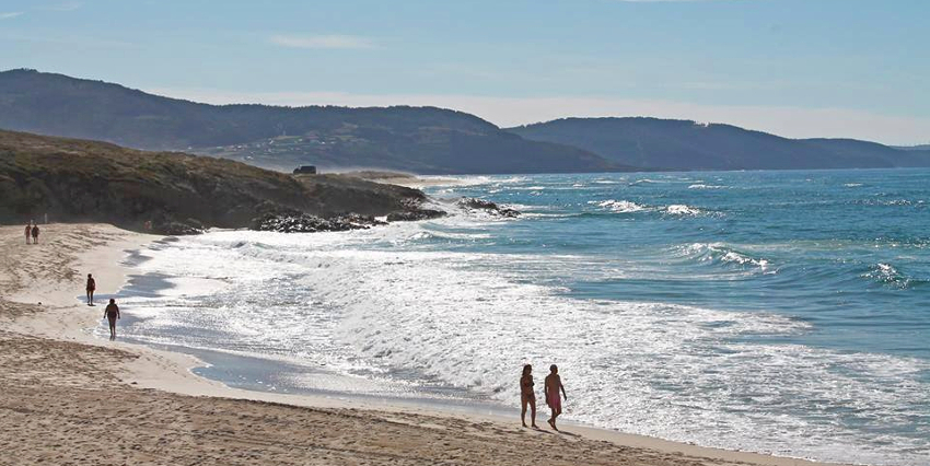
[[[275,395],[194,375],[191,358],[92,337],[93,272],[115,293],[127,249],[109,225],[0,228],[0,465],[813,465],[566,423]],[[42,304],[38,304],[42,302]],[[131,310],[124,310],[131,313]],[[545,424],[545,410],[540,423]]]

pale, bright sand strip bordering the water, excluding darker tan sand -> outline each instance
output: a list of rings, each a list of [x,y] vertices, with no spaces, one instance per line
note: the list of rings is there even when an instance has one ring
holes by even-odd
[[[50,236],[50,245],[58,247],[70,248],[71,256],[68,254],[59,255],[49,260],[65,260],[65,265],[73,264],[73,270],[94,270],[94,276],[97,279],[100,300],[108,298],[111,294],[117,294],[123,290],[128,282],[131,265],[127,264],[127,258],[132,251],[141,249],[144,245],[160,241],[161,236],[142,235],[118,230],[109,225],[100,224],[83,224],[83,225],[48,225],[46,228],[48,236]],[[46,234],[44,231],[44,235]],[[0,228],[0,233],[7,236],[12,236],[14,240],[21,240],[19,228]],[[47,237],[47,236],[46,236]],[[55,244],[59,241],[59,244]],[[69,243],[70,242],[70,243]],[[77,244],[74,244],[77,243]],[[66,246],[67,245],[67,246]],[[23,245],[24,246],[24,245]],[[19,247],[23,247],[19,246]],[[42,246],[42,245],[39,245]],[[28,246],[31,247],[31,246]],[[418,403],[398,403],[397,400],[376,400],[376,399],[359,399],[352,395],[292,395],[292,394],[275,394],[270,392],[257,392],[244,388],[234,388],[226,386],[216,380],[207,378],[195,374],[194,370],[202,366],[204,362],[193,356],[177,351],[167,351],[152,348],[148,345],[130,343],[117,340],[109,342],[105,339],[94,337],[88,328],[92,328],[100,324],[100,314],[103,311],[102,306],[85,307],[80,304],[80,291],[82,287],[83,272],[72,275],[63,275],[60,277],[44,277],[43,271],[32,272],[31,267],[35,264],[43,264],[43,254],[48,249],[34,247],[33,249],[24,249],[23,257],[12,257],[7,252],[8,260],[12,260],[12,265],[19,267],[10,267],[8,264],[7,270],[25,270],[35,278],[30,290],[22,288],[10,295],[3,295],[2,301],[4,307],[28,307],[22,315],[13,313],[12,318],[9,318],[10,325],[4,325],[8,333],[15,335],[12,337],[22,338],[25,335],[38,336],[42,339],[57,342],[75,342],[82,346],[91,346],[106,350],[118,350],[129,354],[129,360],[119,363],[119,366],[113,371],[113,374],[118,378],[119,386],[130,387],[130,392],[148,392],[151,389],[170,393],[173,395],[183,395],[197,397],[195,399],[216,399],[220,400],[248,400],[263,404],[280,405],[281,409],[287,407],[295,408],[312,408],[312,409],[330,409],[330,410],[351,410],[356,416],[369,416],[379,418],[384,416],[404,416],[404,422],[414,426],[428,426],[437,422],[466,422],[469,426],[491,426],[503,436],[513,435],[515,438],[525,439],[528,434],[538,441],[549,441],[546,439],[554,436],[549,431],[532,431],[519,429],[519,412],[516,416],[509,417],[500,413],[480,413],[470,411],[450,411],[449,409],[437,409],[433,406],[423,406]],[[39,254],[38,260],[35,257],[30,257],[33,254]],[[4,277],[4,281],[15,282],[20,277]],[[77,281],[77,286],[75,286]],[[7,289],[15,289],[8,287]],[[42,306],[27,304],[43,301]],[[93,312],[89,311],[93,310]],[[131,311],[130,311],[131,312]],[[94,314],[97,313],[97,314]],[[0,318],[8,319],[8,316],[0,313]],[[49,343],[50,345],[50,343]],[[14,354],[15,356],[15,354]],[[113,368],[94,368],[97,370],[112,370]],[[90,385],[94,387],[92,383]],[[382,403],[383,401],[383,403]],[[277,408],[276,408],[277,409]],[[539,417],[545,418],[545,407],[540,406]],[[412,418],[409,418],[411,417]],[[118,419],[115,420],[118,422]],[[827,463],[817,463],[800,458],[776,457],[760,453],[728,451],[713,447],[702,447],[686,443],[665,441],[636,434],[626,434],[612,430],[604,430],[593,427],[585,427],[569,421],[562,423],[565,426],[565,435],[555,435],[561,441],[571,443],[579,442],[606,442],[613,447],[636,448],[642,452],[631,452],[633,464],[701,464],[725,465],[735,462],[747,463],[754,465],[770,465],[770,466],[787,466],[787,465],[829,465]],[[514,430],[515,429],[515,430]],[[358,435],[375,435],[376,432],[361,429]],[[446,436],[454,436],[451,433]],[[351,435],[349,435],[351,436]],[[531,439],[532,440],[532,439]],[[5,441],[3,442],[5,443]],[[3,443],[0,443],[2,445]],[[475,446],[475,445],[473,445]],[[408,448],[427,448],[429,445],[412,443],[407,445]],[[607,448],[607,446],[604,446]],[[644,453],[643,453],[644,452]],[[582,454],[578,452],[578,454]],[[644,456],[643,456],[644,455]],[[493,458],[488,458],[489,461]],[[630,461],[630,457],[616,458]],[[561,464],[553,461],[539,459],[544,464]],[[585,461],[579,457],[578,461]],[[588,459],[590,461],[590,459]],[[710,463],[708,463],[710,462]],[[290,464],[290,463],[282,463]],[[469,464],[496,464],[491,462],[474,462]],[[600,463],[598,463],[600,464]],[[611,463],[602,463],[611,464]],[[629,464],[629,463],[626,463]]]

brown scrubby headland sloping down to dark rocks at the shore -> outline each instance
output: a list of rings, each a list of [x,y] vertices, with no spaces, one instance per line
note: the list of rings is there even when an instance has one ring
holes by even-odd
[[[267,213],[385,215],[425,199],[416,189],[340,175],[292,176],[244,163],[176,152],[0,131],[0,223],[48,213],[156,231],[245,228]]]

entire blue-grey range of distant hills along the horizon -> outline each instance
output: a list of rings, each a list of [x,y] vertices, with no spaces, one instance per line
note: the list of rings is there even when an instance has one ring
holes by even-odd
[[[304,164],[419,174],[930,166],[922,147],[790,139],[687,119],[571,117],[501,129],[432,106],[211,105],[28,69],[0,72],[0,128],[284,172]]]

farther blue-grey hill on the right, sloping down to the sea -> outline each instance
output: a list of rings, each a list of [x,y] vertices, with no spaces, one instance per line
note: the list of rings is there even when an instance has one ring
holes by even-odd
[[[616,163],[674,170],[930,166],[930,153],[851,139],[787,139],[730,125],[658,118],[565,118],[510,128]]]

